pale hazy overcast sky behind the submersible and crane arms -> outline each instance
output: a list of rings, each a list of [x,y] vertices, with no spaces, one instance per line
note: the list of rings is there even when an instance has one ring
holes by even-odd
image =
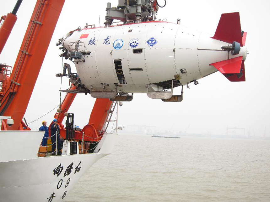
[[[110,1],[110,0],[109,0]],[[117,6],[117,0],[110,1]],[[6,15],[13,10],[16,0],[9,0],[0,8],[0,14]],[[28,122],[44,115],[60,102],[61,51],[55,45],[59,38],[85,23],[105,22],[107,1],[66,0],[51,39],[40,75],[36,82],[25,118]],[[163,5],[164,1],[159,0]],[[199,85],[184,87],[184,100],[180,103],[165,103],[150,99],[146,94],[135,94],[131,102],[120,107],[120,125],[154,125],[164,130],[221,134],[226,127],[251,127],[255,135],[262,136],[266,126],[269,136],[269,1],[172,1],[167,0],[165,8],[159,8],[158,19],[176,23],[177,18],[187,27],[214,34],[221,13],[240,12],[241,28],[247,32],[246,47],[249,51],[245,62],[246,82],[230,82],[216,72],[198,80]],[[24,0],[17,13],[18,20],[8,42],[0,56],[0,63],[14,65],[24,32],[35,6],[34,0]],[[65,62],[65,60],[63,61]],[[67,61],[68,62],[68,61]],[[70,63],[71,64],[71,63]],[[71,64],[72,65],[72,64]],[[75,71],[74,65],[72,65]],[[29,78],[31,79],[31,78]],[[62,89],[66,89],[68,79],[63,78]],[[181,88],[174,92],[180,93]],[[62,93],[62,98],[65,93]],[[76,96],[69,112],[75,114],[75,124],[83,127],[88,123],[95,99],[90,95]],[[56,110],[30,124],[41,126],[41,121],[51,122]],[[246,132],[247,132],[246,130]]]

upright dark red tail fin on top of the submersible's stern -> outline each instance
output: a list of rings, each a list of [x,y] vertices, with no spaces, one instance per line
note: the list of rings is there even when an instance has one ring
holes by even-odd
[[[236,41],[243,46],[239,12],[221,14],[215,35],[211,38],[230,44]]]

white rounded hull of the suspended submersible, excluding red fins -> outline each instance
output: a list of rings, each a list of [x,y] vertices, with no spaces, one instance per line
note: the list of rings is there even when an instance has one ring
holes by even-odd
[[[211,63],[241,55],[246,58],[245,47],[241,47],[240,54],[232,56],[230,52],[221,50],[222,46],[230,44],[212,39],[213,35],[158,21],[76,31],[64,45],[77,41],[81,34],[86,33],[89,36],[82,41],[88,42],[86,47],[93,51],[91,54],[96,54],[96,58],[87,56],[85,63],[75,65],[78,75],[83,77],[82,83],[89,89],[92,85],[95,91],[102,91],[102,83],[109,84],[105,91],[113,91],[114,84],[119,84],[114,64],[116,59],[122,60],[127,81],[127,85],[118,86],[117,91],[145,93],[147,84],[168,81],[179,74],[181,84],[186,85],[216,72],[213,66],[209,66]],[[95,45],[90,44],[95,36]],[[137,46],[130,46],[131,39],[136,39]],[[114,47],[117,40],[121,43]],[[142,53],[133,53],[133,49],[142,49]],[[129,68],[142,68],[142,71],[132,72]],[[182,68],[187,73],[182,74]]]

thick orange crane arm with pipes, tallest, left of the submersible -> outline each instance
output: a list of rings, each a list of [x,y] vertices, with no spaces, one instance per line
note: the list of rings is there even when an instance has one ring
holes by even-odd
[[[11,116],[19,130],[35,82],[65,0],[37,0],[24,35],[7,90],[0,106],[0,116]]]

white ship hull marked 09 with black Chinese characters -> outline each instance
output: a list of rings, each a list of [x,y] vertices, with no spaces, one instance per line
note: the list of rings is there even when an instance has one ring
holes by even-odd
[[[37,151],[43,133],[0,132],[0,201],[64,200],[80,177],[97,160],[110,154],[116,137],[106,133],[95,149],[98,153],[40,158]]]

